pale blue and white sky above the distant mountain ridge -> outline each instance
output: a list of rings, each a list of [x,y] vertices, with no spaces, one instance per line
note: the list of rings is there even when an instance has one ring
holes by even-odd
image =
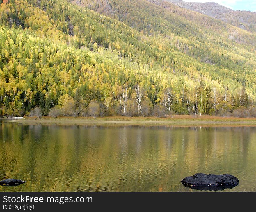
[[[186,2],[209,2],[213,1],[232,10],[248,10],[256,12],[256,0],[183,0]]]

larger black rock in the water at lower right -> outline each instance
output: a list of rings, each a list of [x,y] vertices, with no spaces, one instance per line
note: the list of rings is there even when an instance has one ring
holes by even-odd
[[[233,188],[238,185],[238,179],[233,175],[213,175],[197,173],[190,177],[185,177],[181,183],[198,190],[221,190],[225,188]]]

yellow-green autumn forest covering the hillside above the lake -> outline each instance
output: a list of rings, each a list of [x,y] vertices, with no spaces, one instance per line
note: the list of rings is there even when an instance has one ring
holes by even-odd
[[[142,0],[0,3],[0,116],[256,116],[253,32]]]

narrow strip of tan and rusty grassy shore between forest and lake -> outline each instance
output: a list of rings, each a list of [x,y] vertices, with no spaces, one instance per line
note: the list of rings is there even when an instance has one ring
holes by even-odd
[[[42,117],[24,117],[21,119],[5,120],[8,122],[15,122],[21,124],[42,124],[42,125],[197,125],[197,126],[256,126],[256,118],[234,118],[234,117],[214,117],[214,116],[187,116],[177,115],[169,118],[157,117],[123,117],[123,116],[110,116],[110,117],[58,117],[56,119],[49,116]]]

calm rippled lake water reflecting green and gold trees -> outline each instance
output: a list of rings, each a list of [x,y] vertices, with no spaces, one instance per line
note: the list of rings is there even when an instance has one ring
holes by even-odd
[[[256,127],[63,126],[0,122],[0,191],[197,191],[180,181],[229,173],[256,191]]]

